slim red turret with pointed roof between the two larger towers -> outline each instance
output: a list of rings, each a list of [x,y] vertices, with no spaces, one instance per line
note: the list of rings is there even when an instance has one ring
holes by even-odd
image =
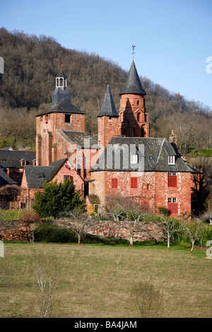
[[[111,138],[119,135],[118,131],[119,114],[114,105],[110,87],[107,85],[102,107],[98,114],[98,144],[105,148]]]

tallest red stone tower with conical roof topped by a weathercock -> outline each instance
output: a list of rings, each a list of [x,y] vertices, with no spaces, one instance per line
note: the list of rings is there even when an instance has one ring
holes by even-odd
[[[146,113],[146,92],[132,61],[124,88],[122,88],[119,112],[119,135],[149,137],[150,125]]]

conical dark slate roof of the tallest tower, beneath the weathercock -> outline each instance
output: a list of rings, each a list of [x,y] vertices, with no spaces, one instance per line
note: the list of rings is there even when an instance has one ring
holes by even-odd
[[[126,78],[126,83],[125,83],[122,91],[119,93],[119,95],[126,95],[129,93],[136,94],[136,95],[146,95],[145,90],[143,90],[143,88],[142,88],[134,61],[132,61],[132,63],[131,63],[129,73]]]

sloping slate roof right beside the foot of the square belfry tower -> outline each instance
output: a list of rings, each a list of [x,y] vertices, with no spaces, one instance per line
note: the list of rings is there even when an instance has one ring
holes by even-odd
[[[63,136],[70,144],[77,144],[78,148],[88,148],[87,143],[90,142],[90,148],[100,148],[98,146],[98,138],[95,135],[85,134],[82,131],[65,131],[57,129],[59,134]]]

